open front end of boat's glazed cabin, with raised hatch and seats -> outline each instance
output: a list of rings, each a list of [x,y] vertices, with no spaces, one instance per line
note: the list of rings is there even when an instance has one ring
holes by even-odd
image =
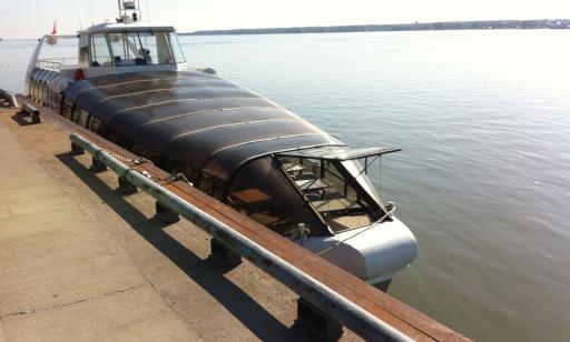
[[[266,157],[237,173],[227,200],[284,234],[299,223],[312,235],[366,227],[385,214],[366,173],[381,154],[394,151],[320,147]]]

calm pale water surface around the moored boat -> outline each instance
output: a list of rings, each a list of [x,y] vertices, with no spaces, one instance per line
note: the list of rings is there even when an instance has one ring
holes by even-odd
[[[420,242],[390,292],[480,341],[570,336],[570,31],[186,37],[215,68],[356,145]],[[0,43],[21,91],[33,42]]]

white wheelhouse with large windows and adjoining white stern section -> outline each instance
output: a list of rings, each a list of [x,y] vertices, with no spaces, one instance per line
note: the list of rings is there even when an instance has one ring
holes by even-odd
[[[37,102],[59,109],[61,92],[73,81],[108,74],[187,69],[174,27],[101,23],[79,31],[77,36],[45,36],[40,39],[28,66],[26,88]]]

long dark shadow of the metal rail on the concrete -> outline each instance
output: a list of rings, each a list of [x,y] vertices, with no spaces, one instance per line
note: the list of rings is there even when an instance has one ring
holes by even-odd
[[[125,220],[140,237],[151,243],[200,288],[214,296],[242,324],[258,339],[308,341],[307,335],[296,324],[284,325],[253,298],[224,276],[224,268],[215,259],[200,259],[177,240],[163,231],[165,224],[158,219],[147,219],[139,210],[124,199],[119,189],[111,189],[83,164],[68,153],[56,158],[67,165],[89,189]]]

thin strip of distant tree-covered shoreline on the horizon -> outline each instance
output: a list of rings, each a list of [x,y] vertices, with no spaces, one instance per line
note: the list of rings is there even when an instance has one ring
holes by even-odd
[[[344,33],[382,31],[442,31],[442,30],[535,30],[570,29],[570,19],[539,20],[478,20],[446,22],[414,22],[391,24],[355,24],[334,27],[292,27],[268,29],[203,30],[179,33],[180,36],[225,36],[225,34],[282,34],[282,33]]]

